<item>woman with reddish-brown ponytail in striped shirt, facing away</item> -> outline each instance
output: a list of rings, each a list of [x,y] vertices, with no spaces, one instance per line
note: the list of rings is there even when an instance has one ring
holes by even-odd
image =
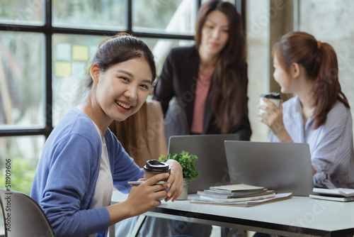
[[[273,47],[273,77],[296,96],[258,106],[271,142],[309,143],[316,187],[354,188],[353,121],[338,81],[336,52],[304,32],[284,35]],[[300,171],[299,171],[300,172]]]

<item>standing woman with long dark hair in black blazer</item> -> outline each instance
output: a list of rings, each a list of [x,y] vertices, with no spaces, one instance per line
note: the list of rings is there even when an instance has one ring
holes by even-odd
[[[233,4],[212,0],[200,8],[195,45],[170,51],[154,89],[167,131],[178,127],[176,119],[167,118],[181,112],[185,134],[238,133],[240,140],[250,139],[245,48]],[[173,97],[178,114],[168,111]]]

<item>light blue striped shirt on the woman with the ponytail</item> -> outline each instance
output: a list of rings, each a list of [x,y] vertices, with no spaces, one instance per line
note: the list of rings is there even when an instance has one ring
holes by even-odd
[[[283,104],[283,122],[294,143],[308,143],[316,187],[354,188],[353,121],[350,109],[336,101],[326,123],[313,129],[313,118],[304,126],[299,97]],[[304,128],[304,129],[303,129]],[[279,142],[270,132],[270,142]],[[299,171],[301,172],[301,171]]]

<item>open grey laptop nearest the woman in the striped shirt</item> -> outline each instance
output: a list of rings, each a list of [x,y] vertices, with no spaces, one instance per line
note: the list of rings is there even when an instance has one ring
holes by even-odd
[[[229,175],[244,183],[309,196],[314,187],[307,143],[224,142]]]

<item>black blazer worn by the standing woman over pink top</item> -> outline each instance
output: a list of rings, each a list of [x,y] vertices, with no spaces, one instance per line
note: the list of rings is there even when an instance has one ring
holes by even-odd
[[[193,121],[199,61],[199,53],[195,49],[195,45],[173,48],[166,57],[161,75],[154,88],[153,99],[160,101],[164,115],[169,109],[169,102],[173,97],[176,97],[180,106],[185,109],[189,131]],[[211,87],[212,84],[210,84]],[[247,90],[247,83],[245,89]],[[206,103],[202,134],[221,133],[219,128],[215,126],[214,121],[215,115],[212,112],[212,108],[210,104]],[[241,124],[232,128],[229,133],[238,133],[240,140],[250,139],[251,125],[248,111],[244,114]]]

